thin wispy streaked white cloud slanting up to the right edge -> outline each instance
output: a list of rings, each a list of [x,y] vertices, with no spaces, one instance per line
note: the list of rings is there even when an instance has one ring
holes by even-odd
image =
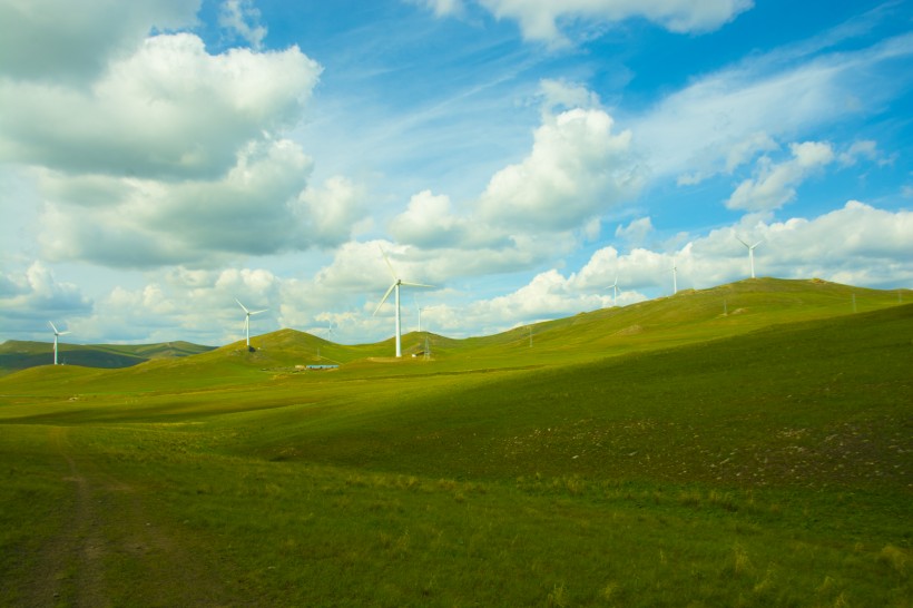
[[[696,184],[732,174],[779,141],[882,111],[910,82],[907,72],[884,71],[911,53],[913,37],[905,36],[811,60],[754,57],[696,79],[628,124],[654,176]],[[868,91],[865,99],[860,90]]]

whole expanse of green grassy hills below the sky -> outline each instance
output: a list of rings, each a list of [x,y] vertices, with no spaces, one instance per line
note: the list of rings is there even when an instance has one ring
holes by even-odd
[[[285,330],[12,373],[0,601],[911,606],[912,300],[757,280],[532,346]]]

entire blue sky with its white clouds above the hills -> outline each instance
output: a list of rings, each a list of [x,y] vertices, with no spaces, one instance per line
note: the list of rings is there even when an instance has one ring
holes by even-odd
[[[913,10],[0,0],[0,340],[503,331],[759,276],[913,286]],[[332,328],[332,334],[330,333]]]

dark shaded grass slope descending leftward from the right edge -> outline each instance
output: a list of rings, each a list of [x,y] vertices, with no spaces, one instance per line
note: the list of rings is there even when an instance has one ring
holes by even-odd
[[[904,489],[911,355],[905,305],[580,365],[420,386],[390,379],[359,416],[320,405],[277,412],[274,429],[244,449],[464,479]]]

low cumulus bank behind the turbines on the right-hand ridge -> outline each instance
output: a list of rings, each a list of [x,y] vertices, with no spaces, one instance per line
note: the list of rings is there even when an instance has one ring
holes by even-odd
[[[842,208],[812,219],[754,222],[717,228],[691,237],[673,251],[615,247],[596,252],[569,277],[578,290],[601,290],[618,276],[619,288],[659,288],[671,292],[673,261],[678,287],[705,288],[749,276],[742,235],[755,249],[758,276],[819,277],[854,285],[877,286],[913,281],[913,214],[889,212],[851,200]]]

